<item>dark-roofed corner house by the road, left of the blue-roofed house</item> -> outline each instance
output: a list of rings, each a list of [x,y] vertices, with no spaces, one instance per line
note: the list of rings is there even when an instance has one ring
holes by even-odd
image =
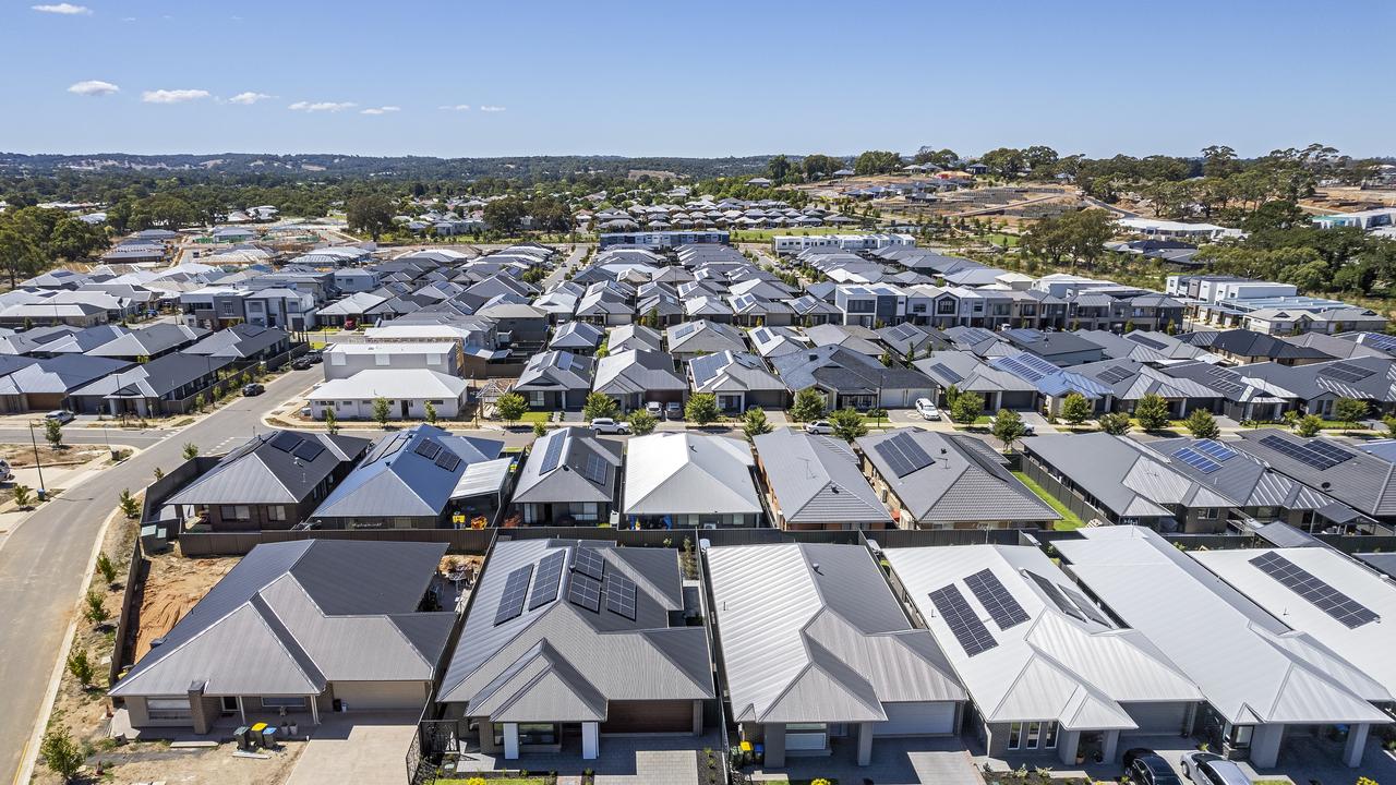
[[[176,508],[180,531],[289,529],[310,517],[371,444],[328,433],[257,434],[165,504]]]

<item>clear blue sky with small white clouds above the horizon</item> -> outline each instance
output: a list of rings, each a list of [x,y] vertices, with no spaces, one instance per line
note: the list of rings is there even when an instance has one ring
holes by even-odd
[[[1386,0],[4,0],[0,149],[1389,155],[1393,22]]]

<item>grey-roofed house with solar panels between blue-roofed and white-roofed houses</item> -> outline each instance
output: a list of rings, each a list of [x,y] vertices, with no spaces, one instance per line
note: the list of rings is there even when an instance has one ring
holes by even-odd
[[[620,499],[621,443],[589,427],[560,427],[533,440],[514,483],[525,525],[610,522]]]

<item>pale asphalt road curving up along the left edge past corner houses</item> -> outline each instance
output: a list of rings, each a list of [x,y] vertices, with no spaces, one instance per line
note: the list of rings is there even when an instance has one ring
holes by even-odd
[[[112,429],[114,443],[145,448],[134,458],[99,472],[49,501],[17,527],[0,548],[0,684],[10,697],[0,711],[0,782],[11,782],[57,663],[64,636],[92,567],[92,549],[102,522],[123,489],[151,482],[155,467],[174,468],[186,441],[212,453],[235,437],[250,436],[261,418],[283,399],[309,387],[320,369],[292,372],[267,384],[267,394],[237,398],[223,409],[179,432]],[[73,443],[102,443],[101,429],[64,429]],[[163,437],[162,437],[163,436]],[[22,437],[22,439],[21,439]],[[29,432],[0,430],[6,441],[28,441]]]

